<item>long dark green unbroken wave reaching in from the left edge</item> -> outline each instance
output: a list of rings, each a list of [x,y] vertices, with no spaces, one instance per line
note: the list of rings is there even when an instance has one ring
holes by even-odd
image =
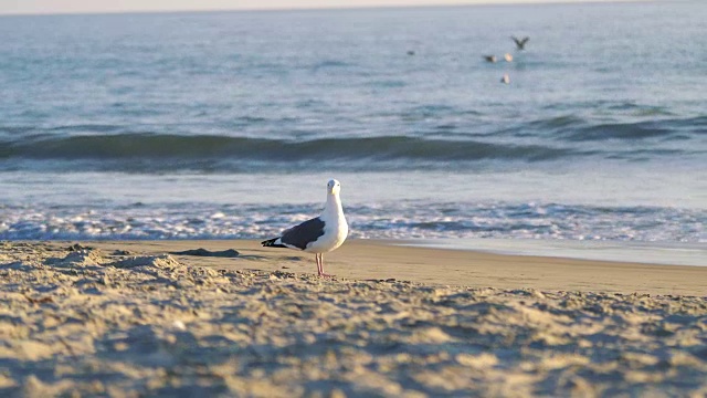
[[[548,160],[582,151],[542,145],[383,136],[309,140],[156,134],[34,137],[2,143],[0,158],[219,160]]]

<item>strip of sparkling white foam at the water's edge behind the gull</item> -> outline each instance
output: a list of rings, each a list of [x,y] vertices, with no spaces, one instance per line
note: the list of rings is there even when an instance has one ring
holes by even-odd
[[[261,239],[319,205],[6,207],[0,239]],[[213,217],[218,214],[218,217]],[[347,209],[352,238],[519,238],[704,242],[707,211],[555,203],[388,202]]]

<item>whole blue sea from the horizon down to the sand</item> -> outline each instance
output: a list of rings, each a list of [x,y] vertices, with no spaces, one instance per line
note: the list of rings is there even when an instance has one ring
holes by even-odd
[[[263,238],[336,177],[359,238],[704,243],[704,21],[701,2],[0,17],[0,239]]]

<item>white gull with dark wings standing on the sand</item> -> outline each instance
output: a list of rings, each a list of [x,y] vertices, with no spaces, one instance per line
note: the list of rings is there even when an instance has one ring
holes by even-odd
[[[266,248],[288,248],[314,253],[319,276],[331,276],[324,273],[324,253],[328,253],[344,243],[349,233],[349,226],[344,217],[339,191],[341,184],[335,179],[327,182],[327,202],[319,217],[289,228],[273,239],[262,241]]]

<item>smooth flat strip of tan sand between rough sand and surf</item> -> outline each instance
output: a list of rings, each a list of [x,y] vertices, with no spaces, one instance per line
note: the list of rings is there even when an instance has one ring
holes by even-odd
[[[324,256],[325,272],[346,280],[411,281],[432,285],[707,295],[707,268],[613,262],[541,255],[499,254],[401,245],[394,240],[348,240]],[[314,254],[262,248],[255,240],[96,241],[82,244],[147,254],[204,248],[235,249],[235,259],[175,255],[188,264],[224,270],[312,274]]]

